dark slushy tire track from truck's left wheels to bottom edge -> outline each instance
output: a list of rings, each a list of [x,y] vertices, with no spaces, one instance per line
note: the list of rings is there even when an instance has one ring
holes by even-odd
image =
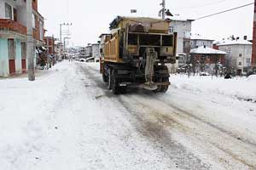
[[[86,68],[80,66],[81,69],[86,72],[90,80],[96,82],[99,88],[104,90],[104,93],[108,98],[114,98],[119,101],[119,105],[122,105],[126,111],[130,113],[132,117],[131,123],[136,127],[137,132],[141,133],[143,137],[146,137],[154,148],[160,150],[165,156],[169,157],[170,160],[176,163],[177,167],[189,170],[207,170],[211,169],[207,164],[203,163],[198,157],[194,156],[189,150],[183,147],[182,144],[172,139],[172,135],[166,130],[165,126],[158,122],[150,122],[146,120],[141,111],[136,111],[131,103],[125,102],[122,95],[113,95],[102,82],[101,77],[97,77],[94,74],[99,72],[86,65]],[[136,89],[137,90],[137,89]],[[141,90],[140,93],[148,91]],[[131,93],[135,93],[132,91]],[[137,91],[136,91],[137,93]]]

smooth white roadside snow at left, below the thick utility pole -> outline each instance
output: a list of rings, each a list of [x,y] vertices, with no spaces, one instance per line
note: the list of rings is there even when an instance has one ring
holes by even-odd
[[[50,107],[55,102],[68,65],[56,65],[35,82],[27,78],[0,80],[1,169],[29,169],[47,139]],[[59,83],[60,82],[60,83]],[[20,165],[24,166],[23,168]]]

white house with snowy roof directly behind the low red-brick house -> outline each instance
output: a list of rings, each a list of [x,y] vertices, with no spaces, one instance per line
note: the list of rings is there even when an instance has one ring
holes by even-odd
[[[191,49],[206,46],[207,48],[213,48],[214,40],[208,37],[203,37],[200,34],[192,34],[190,37]]]

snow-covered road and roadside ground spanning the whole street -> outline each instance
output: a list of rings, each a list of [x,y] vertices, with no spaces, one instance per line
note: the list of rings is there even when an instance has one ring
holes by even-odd
[[[251,100],[177,76],[166,94],[115,96],[98,70],[0,80],[0,169],[256,169]]]

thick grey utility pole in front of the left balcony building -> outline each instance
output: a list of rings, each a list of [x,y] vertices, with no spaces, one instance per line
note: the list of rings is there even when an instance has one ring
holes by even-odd
[[[32,29],[32,0],[26,0],[26,54],[28,59],[28,80],[35,81],[34,42]]]

